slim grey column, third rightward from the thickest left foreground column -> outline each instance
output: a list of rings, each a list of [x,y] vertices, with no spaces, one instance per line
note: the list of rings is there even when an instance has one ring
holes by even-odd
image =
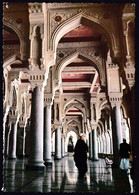
[[[61,159],[61,129],[58,127],[55,134],[55,159]]]

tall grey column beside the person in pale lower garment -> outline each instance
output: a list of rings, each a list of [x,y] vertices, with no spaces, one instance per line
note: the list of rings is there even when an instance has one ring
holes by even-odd
[[[122,142],[120,105],[112,110],[113,166],[119,166],[119,149]]]

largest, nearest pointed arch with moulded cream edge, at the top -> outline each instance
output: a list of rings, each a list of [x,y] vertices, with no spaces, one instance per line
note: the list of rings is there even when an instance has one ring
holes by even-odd
[[[115,36],[111,30],[111,27],[104,22],[93,18],[92,16],[84,13],[78,13],[75,16],[67,19],[55,29],[50,40],[50,49],[56,51],[59,40],[69,31],[79,27],[80,25],[86,25],[88,27],[94,27],[98,32],[105,35],[109,45],[112,48],[117,48]]]

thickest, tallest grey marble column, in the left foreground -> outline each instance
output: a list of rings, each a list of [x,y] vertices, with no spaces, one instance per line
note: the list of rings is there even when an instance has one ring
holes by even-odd
[[[43,88],[36,86],[32,93],[30,152],[27,169],[43,170]]]

